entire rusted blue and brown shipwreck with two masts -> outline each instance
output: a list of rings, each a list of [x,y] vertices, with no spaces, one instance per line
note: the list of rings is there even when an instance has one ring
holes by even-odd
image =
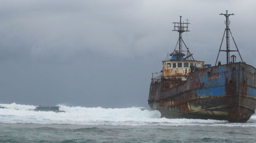
[[[179,39],[171,58],[163,61],[159,73],[152,73],[148,105],[161,112],[165,118],[217,119],[230,122],[246,122],[256,107],[256,69],[243,62],[236,63],[236,56],[229,52],[229,16],[226,17],[227,64],[211,67],[196,61],[182,39],[188,31],[188,22],[174,22]],[[231,34],[232,36],[232,34]],[[233,39],[233,36],[232,36]],[[234,40],[233,40],[234,41]],[[182,47],[185,46],[185,50]],[[178,47],[178,49],[177,49]],[[219,54],[217,56],[216,64]],[[231,60],[230,60],[231,58]]]

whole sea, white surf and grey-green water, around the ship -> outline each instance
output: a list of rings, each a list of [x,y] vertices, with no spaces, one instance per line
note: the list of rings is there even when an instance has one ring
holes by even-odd
[[[143,107],[0,104],[0,142],[256,142],[246,123],[166,119]]]

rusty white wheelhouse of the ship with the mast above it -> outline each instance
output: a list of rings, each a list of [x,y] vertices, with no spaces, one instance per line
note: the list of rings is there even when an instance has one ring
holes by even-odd
[[[168,57],[166,61],[162,62],[163,67],[160,73],[152,73],[152,83],[161,82],[161,91],[184,83],[190,72],[204,68],[204,62],[196,61],[193,58],[193,54],[182,39],[182,33],[189,32],[189,23],[188,21],[182,22],[181,17],[180,22],[173,22],[173,31],[179,33],[179,39],[174,51],[169,54],[170,59]],[[185,47],[184,50],[183,46]]]

